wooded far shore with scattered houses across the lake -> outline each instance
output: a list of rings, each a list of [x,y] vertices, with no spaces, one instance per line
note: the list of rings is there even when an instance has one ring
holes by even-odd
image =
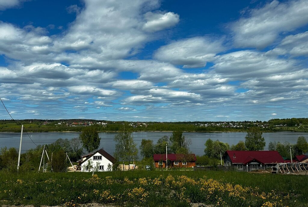
[[[271,119],[268,121],[195,121],[195,122],[128,122],[90,119],[66,120],[0,120],[0,132],[20,132],[21,125],[27,132],[80,132],[84,127],[97,131],[122,131],[124,126],[131,131],[188,131],[188,132],[241,132],[257,126],[263,132],[294,131],[308,132],[308,118]],[[18,126],[19,125],[19,126]]]

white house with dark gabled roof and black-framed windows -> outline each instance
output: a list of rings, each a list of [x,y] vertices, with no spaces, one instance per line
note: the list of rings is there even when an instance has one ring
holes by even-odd
[[[78,160],[81,162],[81,172],[91,172],[96,166],[98,166],[98,171],[108,171],[108,164],[112,170],[115,160],[113,156],[103,149],[83,155],[81,158],[81,160]]]

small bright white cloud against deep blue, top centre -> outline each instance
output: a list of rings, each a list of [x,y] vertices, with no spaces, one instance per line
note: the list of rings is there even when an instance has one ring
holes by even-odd
[[[173,12],[148,12],[145,15],[147,22],[143,26],[143,30],[147,32],[156,32],[172,26],[175,26],[180,21],[180,16]]]

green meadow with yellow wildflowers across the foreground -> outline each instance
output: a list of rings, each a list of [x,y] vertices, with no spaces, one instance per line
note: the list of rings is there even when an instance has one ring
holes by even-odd
[[[307,176],[223,171],[0,173],[0,204],[307,206]]]

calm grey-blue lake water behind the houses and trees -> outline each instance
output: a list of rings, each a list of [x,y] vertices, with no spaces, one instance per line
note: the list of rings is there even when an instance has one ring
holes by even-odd
[[[104,148],[108,153],[113,155],[113,151],[115,149],[115,143],[113,138],[115,136],[115,132],[102,132],[99,133],[99,137],[101,137],[100,148]],[[157,142],[159,138],[162,136],[170,136],[172,132],[133,132],[134,140],[137,143],[137,147],[139,149],[139,145],[142,139],[151,139],[154,144]],[[237,144],[239,140],[245,140],[246,132],[184,132],[185,137],[190,138],[192,140],[192,144],[190,145],[190,150],[196,155],[204,154],[204,143],[207,139],[211,138],[212,140],[220,140],[222,142],[227,142],[231,144]],[[79,136],[79,132],[29,132],[31,139],[36,144],[51,144],[55,140],[62,139],[72,139]],[[298,136],[304,136],[308,139],[307,133],[302,132],[268,132],[263,133],[265,138],[266,146],[265,150],[267,150],[267,146],[269,142],[273,141],[289,141],[291,144],[296,143]],[[0,148],[2,147],[15,147],[19,148],[20,142],[20,133],[11,133],[11,132],[3,132],[0,133]],[[28,150],[31,148],[35,148],[36,146],[27,136],[27,134],[23,134],[22,136],[22,150]]]

